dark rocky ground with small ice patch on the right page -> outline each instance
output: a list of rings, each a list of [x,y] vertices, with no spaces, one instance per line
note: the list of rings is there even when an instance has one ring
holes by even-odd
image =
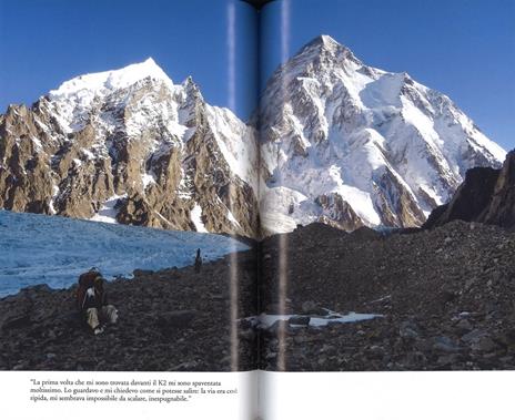
[[[387,236],[301,227],[263,245],[269,314],[281,307],[280,248],[286,314],[383,317],[322,328],[300,326],[305,317],[276,321],[263,334],[263,369],[515,369],[515,234],[464,222]]]

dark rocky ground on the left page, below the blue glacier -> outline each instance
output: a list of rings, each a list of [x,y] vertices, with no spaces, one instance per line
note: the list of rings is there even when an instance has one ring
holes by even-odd
[[[109,283],[120,318],[99,336],[81,322],[74,287],[37,286],[0,299],[0,369],[231,370],[231,258],[204,264],[200,274],[193,267],[135,272],[131,280]],[[255,314],[256,258],[252,252],[234,258],[242,318]],[[255,368],[255,339],[239,337],[238,369]]]

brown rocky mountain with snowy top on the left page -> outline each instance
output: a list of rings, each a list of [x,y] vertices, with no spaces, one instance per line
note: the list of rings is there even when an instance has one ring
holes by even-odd
[[[0,208],[258,232],[253,129],[152,59],[67,81],[0,115]]]

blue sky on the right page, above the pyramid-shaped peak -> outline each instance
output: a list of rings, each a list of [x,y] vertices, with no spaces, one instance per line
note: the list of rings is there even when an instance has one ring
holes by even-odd
[[[277,0],[263,11],[262,82],[281,62],[284,10],[289,55],[330,34],[366,64],[447,94],[492,140],[515,147],[514,0]]]

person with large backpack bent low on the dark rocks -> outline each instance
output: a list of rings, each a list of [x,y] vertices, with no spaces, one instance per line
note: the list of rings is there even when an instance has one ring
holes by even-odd
[[[77,305],[94,335],[103,332],[107,324],[118,320],[118,310],[109,305],[104,284],[104,278],[95,268],[79,277]]]

